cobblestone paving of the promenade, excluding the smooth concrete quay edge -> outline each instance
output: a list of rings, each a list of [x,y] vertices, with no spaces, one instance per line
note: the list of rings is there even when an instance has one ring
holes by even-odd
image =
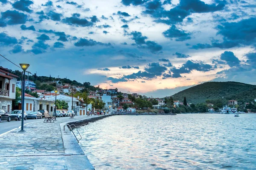
[[[92,117],[76,116],[72,120]],[[64,153],[60,123],[69,120],[57,118],[54,123],[44,123],[42,119],[26,124],[24,133],[17,129],[1,136],[0,170],[67,170],[64,156],[69,156]]]

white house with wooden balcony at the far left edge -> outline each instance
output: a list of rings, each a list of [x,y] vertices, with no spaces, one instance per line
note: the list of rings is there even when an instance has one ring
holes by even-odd
[[[17,75],[9,73],[9,69],[0,67],[0,109],[12,111],[12,100],[15,99]]]

